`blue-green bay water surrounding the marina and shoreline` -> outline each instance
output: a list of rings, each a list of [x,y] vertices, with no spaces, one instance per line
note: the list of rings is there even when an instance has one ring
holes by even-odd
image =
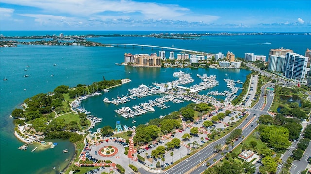
[[[46,35],[59,34],[103,34],[103,33],[125,33],[128,31],[1,31],[4,35]],[[150,34],[156,32],[136,32],[141,34]],[[304,54],[306,48],[311,48],[311,36],[309,35],[249,35],[249,36],[208,36],[200,40],[176,40],[176,39],[156,39],[148,37],[103,37],[89,38],[90,40],[101,43],[133,43],[157,45],[164,47],[193,49],[211,53],[231,51],[236,55],[243,57],[245,52],[254,52],[257,55],[268,55],[269,49],[285,47],[293,49],[294,52]],[[271,44],[262,44],[271,42]],[[52,174],[58,173],[52,170],[53,166],[60,165],[63,169],[67,165],[65,159],[71,159],[73,156],[73,145],[68,140],[51,140],[59,145],[54,149],[45,151],[30,152],[34,146],[28,150],[21,151],[17,147],[23,143],[18,141],[14,135],[14,125],[9,118],[14,108],[20,107],[20,104],[28,97],[38,93],[47,93],[53,91],[59,85],[68,85],[70,87],[77,84],[91,84],[94,81],[103,79],[125,79],[132,81],[120,87],[111,89],[110,92],[101,96],[92,97],[83,102],[83,106],[92,112],[93,115],[104,118],[105,121],[96,125],[93,129],[111,125],[114,127],[115,121],[121,121],[128,126],[133,125],[132,119],[126,120],[123,117],[114,117],[116,108],[113,104],[105,104],[104,97],[116,98],[117,95],[126,95],[127,89],[138,87],[140,84],[151,85],[153,82],[166,82],[176,78],[173,72],[179,71],[178,68],[134,68],[126,66],[117,66],[115,63],[124,61],[124,53],[154,53],[157,49],[140,47],[83,47],[83,46],[42,46],[42,45],[18,45],[18,47],[0,48],[0,77],[6,77],[8,80],[0,80],[0,153],[1,169],[0,173],[7,174]],[[167,51],[168,55],[169,51]],[[177,54],[177,52],[175,52]],[[53,66],[53,64],[57,64]],[[30,66],[26,68],[26,66]],[[27,71],[24,71],[27,69]],[[211,91],[224,91],[226,85],[224,78],[240,79],[245,81],[247,70],[229,70],[229,69],[181,69],[192,73],[194,84],[199,83],[200,79],[196,74],[216,75],[220,85],[211,89]],[[224,74],[229,76],[226,77]],[[23,77],[24,75],[29,77]],[[54,76],[51,76],[54,74]],[[190,85],[190,84],[189,84]],[[24,90],[26,89],[26,90]],[[201,92],[206,94],[209,90]],[[238,94],[241,92],[239,90]],[[135,104],[160,97],[152,95],[146,98],[133,100],[124,106],[133,106]],[[172,111],[177,111],[180,107],[187,105],[187,102],[180,104],[168,103],[170,108],[161,110],[155,108],[154,113],[145,114],[135,118],[136,125],[145,123],[151,118],[158,118],[159,115],[166,115]],[[62,154],[63,149],[69,149],[69,153]],[[59,154],[61,153],[61,154]],[[18,161],[19,167],[16,168],[14,162]]]

